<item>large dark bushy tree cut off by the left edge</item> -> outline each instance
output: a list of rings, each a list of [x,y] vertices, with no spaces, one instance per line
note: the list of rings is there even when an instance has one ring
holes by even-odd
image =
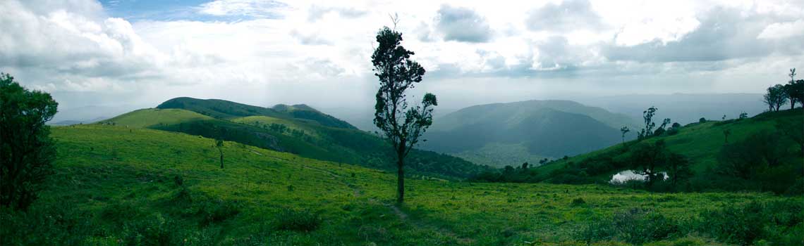
[[[28,91],[0,73],[0,204],[27,209],[55,158],[50,127],[59,103],[42,91]]]

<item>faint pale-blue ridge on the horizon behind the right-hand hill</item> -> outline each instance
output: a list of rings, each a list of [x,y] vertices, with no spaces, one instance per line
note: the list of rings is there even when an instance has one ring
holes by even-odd
[[[743,111],[753,116],[767,109],[762,103],[761,94],[749,93],[617,95],[578,101],[629,115],[634,119],[642,119],[642,111],[655,106],[658,108],[656,118],[670,118],[681,124],[698,122],[701,117],[720,120],[726,115],[726,119],[736,119]]]

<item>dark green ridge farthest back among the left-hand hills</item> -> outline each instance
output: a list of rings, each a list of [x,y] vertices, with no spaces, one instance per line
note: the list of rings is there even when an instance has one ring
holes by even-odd
[[[280,119],[308,119],[326,127],[357,129],[357,127],[354,127],[343,120],[326,115],[303,104],[293,106],[279,104],[273,108],[268,108],[256,107],[220,99],[193,99],[182,97],[167,100],[165,103],[159,104],[157,108],[186,109],[188,111],[195,111],[199,114],[208,115],[216,119],[234,119],[238,117],[255,115]]]

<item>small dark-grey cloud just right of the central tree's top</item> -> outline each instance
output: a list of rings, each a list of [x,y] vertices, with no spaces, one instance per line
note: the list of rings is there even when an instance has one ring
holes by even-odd
[[[442,5],[436,17],[437,30],[444,34],[444,40],[457,42],[488,42],[491,29],[474,10]]]

